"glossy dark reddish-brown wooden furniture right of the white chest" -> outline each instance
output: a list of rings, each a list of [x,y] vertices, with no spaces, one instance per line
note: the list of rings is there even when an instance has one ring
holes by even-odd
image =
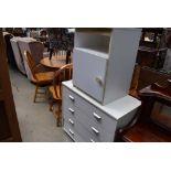
[[[116,141],[171,141],[171,83],[152,84],[139,92],[142,105],[135,118],[117,131]]]

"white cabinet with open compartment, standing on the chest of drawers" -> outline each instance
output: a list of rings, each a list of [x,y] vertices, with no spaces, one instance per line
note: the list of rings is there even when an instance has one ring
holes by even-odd
[[[126,96],[139,46],[140,29],[77,29],[73,84],[101,105]]]

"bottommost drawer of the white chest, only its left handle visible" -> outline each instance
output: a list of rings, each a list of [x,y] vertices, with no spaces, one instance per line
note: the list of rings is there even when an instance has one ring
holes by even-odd
[[[64,131],[76,142],[85,142],[85,140],[73,129],[68,122],[64,120]]]

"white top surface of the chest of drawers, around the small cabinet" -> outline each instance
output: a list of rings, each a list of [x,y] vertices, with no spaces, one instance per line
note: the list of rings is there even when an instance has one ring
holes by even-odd
[[[103,113],[107,114],[116,120],[120,119],[126,114],[129,114],[130,111],[137,109],[141,105],[140,100],[127,95],[122,98],[119,98],[110,104],[103,106],[101,104],[97,103],[95,99],[93,99],[78,88],[74,87],[72,81],[63,82],[63,87],[72,90],[72,93],[78,95],[79,97],[88,101],[90,105],[94,105]]]

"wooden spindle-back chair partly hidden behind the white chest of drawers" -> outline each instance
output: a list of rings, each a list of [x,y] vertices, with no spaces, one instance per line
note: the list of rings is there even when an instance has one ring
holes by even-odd
[[[49,92],[52,96],[50,103],[50,110],[53,110],[53,105],[57,103],[57,109],[54,110],[56,118],[56,125],[62,125],[62,82],[72,79],[73,64],[66,64],[62,66],[54,76],[53,85],[49,87]]]

